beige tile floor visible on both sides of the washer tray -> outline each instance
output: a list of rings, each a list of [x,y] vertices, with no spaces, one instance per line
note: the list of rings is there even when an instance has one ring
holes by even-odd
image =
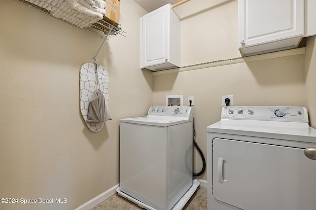
[[[116,193],[91,210],[143,210]],[[183,210],[207,210],[207,189],[199,186]]]

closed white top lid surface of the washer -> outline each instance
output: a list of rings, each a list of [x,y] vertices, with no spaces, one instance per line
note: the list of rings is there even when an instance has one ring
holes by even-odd
[[[181,124],[189,122],[189,118],[186,117],[170,117],[170,116],[144,116],[137,118],[124,118],[120,119],[120,122],[127,122],[133,124],[154,125],[167,127],[171,125]]]

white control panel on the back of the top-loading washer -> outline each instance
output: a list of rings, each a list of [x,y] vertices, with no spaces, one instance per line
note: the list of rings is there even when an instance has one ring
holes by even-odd
[[[178,116],[189,118],[192,115],[192,109],[189,106],[151,106],[148,110],[148,115]]]

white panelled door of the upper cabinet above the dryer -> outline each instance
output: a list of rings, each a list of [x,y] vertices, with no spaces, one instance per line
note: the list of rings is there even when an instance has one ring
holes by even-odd
[[[304,0],[239,0],[239,48],[304,34]]]

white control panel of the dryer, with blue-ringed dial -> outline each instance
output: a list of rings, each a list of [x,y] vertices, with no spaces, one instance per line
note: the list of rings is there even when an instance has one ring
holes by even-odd
[[[308,122],[305,107],[227,106],[222,119]]]

